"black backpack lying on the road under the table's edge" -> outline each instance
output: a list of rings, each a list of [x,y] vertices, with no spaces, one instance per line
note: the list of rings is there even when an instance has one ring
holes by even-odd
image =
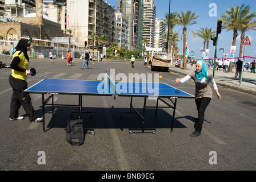
[[[78,142],[72,139],[78,138]],[[85,133],[83,131],[83,119],[69,120],[66,127],[66,139],[73,146],[81,146],[85,140]]]

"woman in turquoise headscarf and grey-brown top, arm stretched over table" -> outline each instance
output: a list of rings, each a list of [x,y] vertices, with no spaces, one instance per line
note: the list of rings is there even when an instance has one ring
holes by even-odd
[[[211,91],[210,82],[213,85],[218,100],[221,99],[218,87],[214,81],[213,75],[208,73],[208,68],[203,60],[198,60],[195,64],[195,71],[183,78],[177,78],[176,84],[186,82],[192,78],[195,82],[195,104],[197,105],[198,118],[194,119],[195,131],[190,134],[191,137],[198,137],[201,135],[203,120],[205,119],[205,110],[209,105],[213,92]]]

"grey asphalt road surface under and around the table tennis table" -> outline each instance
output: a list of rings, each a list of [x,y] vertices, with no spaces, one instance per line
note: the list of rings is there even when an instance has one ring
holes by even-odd
[[[83,61],[75,59],[75,65],[65,66],[65,60],[30,59],[30,67],[37,75],[29,76],[29,86],[43,78],[71,78],[97,80],[100,73],[112,73],[119,77],[138,75],[150,77],[161,75],[165,82],[187,93],[194,94],[194,82],[175,85],[178,73],[152,72],[144,68],[142,61],[131,68],[129,61],[103,61],[90,63],[91,69],[81,69]],[[86,68],[86,67],[85,67]],[[111,72],[110,72],[111,69]],[[0,170],[83,170],[83,171],[244,171],[256,169],[255,110],[256,96],[218,86],[221,100],[214,94],[205,113],[202,135],[190,137],[194,131],[191,121],[197,117],[194,99],[178,99],[174,130],[170,132],[173,110],[161,109],[154,117],[154,109],[146,110],[146,127],[155,127],[156,133],[129,134],[130,127],[141,127],[141,119],[135,114],[123,114],[129,110],[130,98],[107,96],[84,96],[82,118],[95,135],[87,133],[85,143],[75,147],[65,139],[65,127],[76,107],[46,107],[47,131],[42,132],[42,123],[31,123],[21,108],[22,121],[9,121],[12,89],[9,85],[11,69],[0,69]],[[130,75],[129,75],[130,73]],[[153,75],[151,75],[153,74]],[[124,77],[123,77],[124,78]],[[39,117],[42,116],[41,94],[30,94]],[[55,96],[55,103],[77,104],[78,96]],[[155,100],[147,103],[155,105]],[[135,98],[134,105],[142,110],[143,99]],[[44,163],[45,162],[45,163]],[[43,164],[42,164],[43,163]]]

